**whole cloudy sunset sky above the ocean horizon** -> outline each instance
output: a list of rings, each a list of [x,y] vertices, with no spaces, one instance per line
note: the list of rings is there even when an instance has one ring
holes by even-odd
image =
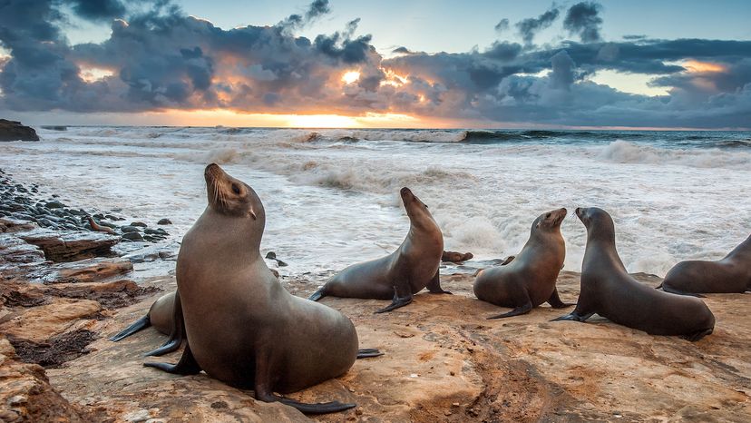
[[[0,0],[0,117],[748,129],[750,17],[740,0]]]

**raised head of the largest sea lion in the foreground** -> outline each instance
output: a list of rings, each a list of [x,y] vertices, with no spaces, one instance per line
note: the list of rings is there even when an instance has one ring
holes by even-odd
[[[233,178],[217,163],[206,166],[203,177],[212,211],[261,224],[266,221],[263,203],[247,183]]]

